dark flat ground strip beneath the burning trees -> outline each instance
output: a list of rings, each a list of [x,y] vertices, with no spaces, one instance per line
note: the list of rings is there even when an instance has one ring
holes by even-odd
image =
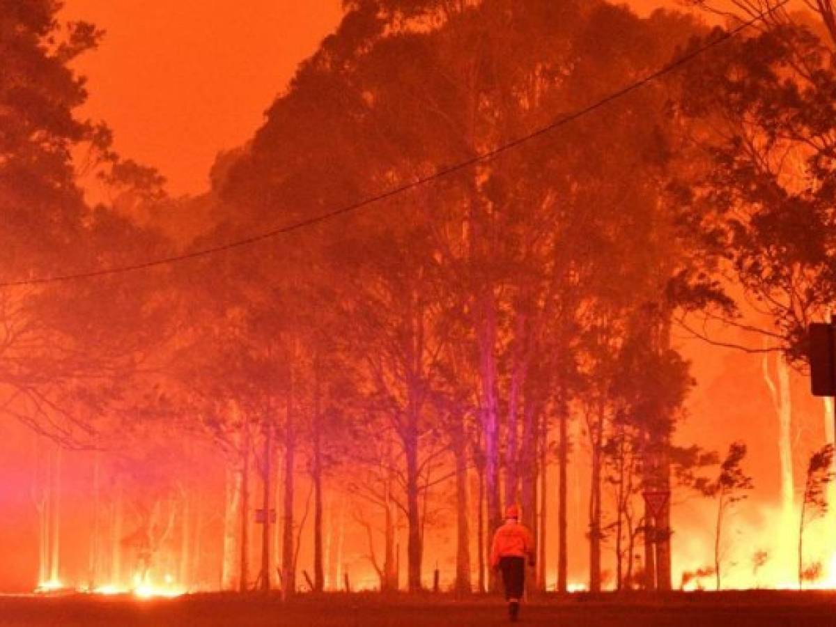
[[[502,601],[371,594],[304,595],[291,604],[278,597],[203,594],[180,599],[130,597],[0,598],[0,625],[14,627],[465,627],[507,624]],[[566,627],[836,627],[836,594],[746,593],[670,594],[570,599],[543,598],[523,606],[521,625]]]

